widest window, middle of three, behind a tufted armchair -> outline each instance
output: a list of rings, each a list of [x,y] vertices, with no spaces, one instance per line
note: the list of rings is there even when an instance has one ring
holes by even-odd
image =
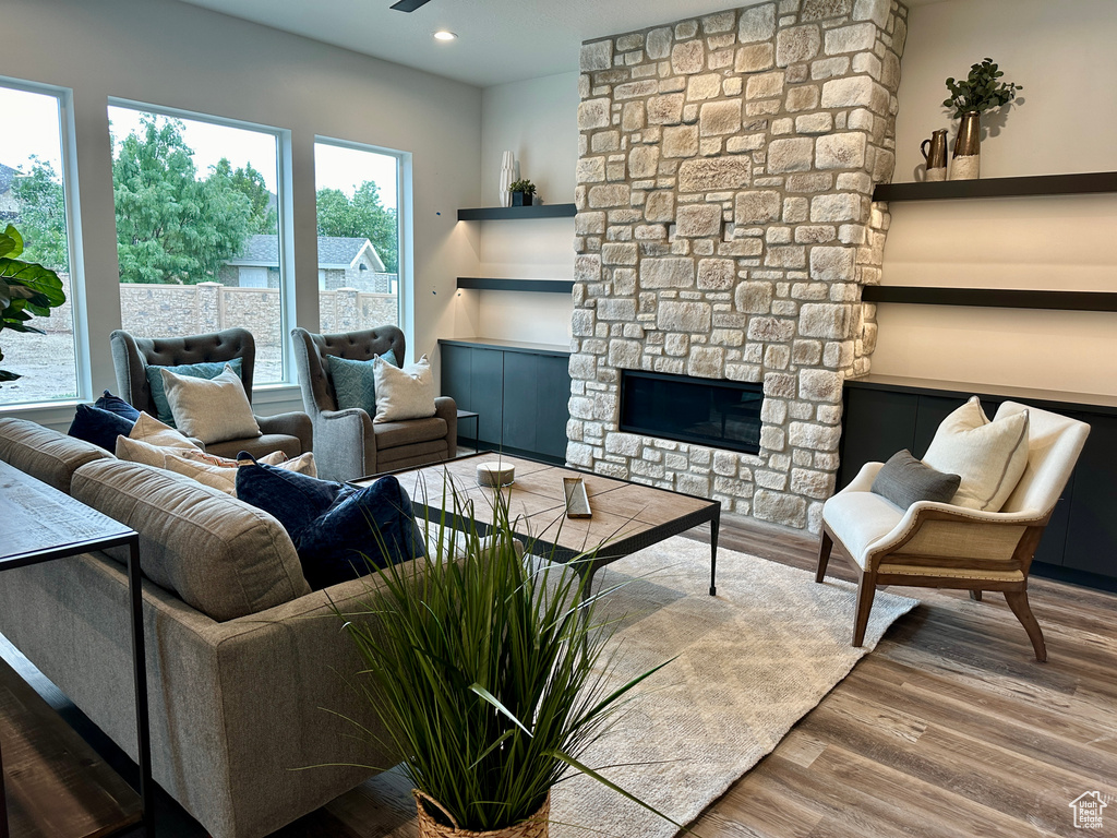
[[[244,326],[284,380],[279,132],[108,108],[121,322],[144,337]]]

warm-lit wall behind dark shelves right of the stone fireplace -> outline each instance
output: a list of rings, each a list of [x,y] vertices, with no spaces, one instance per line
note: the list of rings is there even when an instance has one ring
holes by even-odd
[[[947,0],[910,10],[897,182],[919,143],[956,131],[947,76],[989,56],[1023,85],[984,120],[982,177],[1117,170],[1113,0]],[[1004,108],[1002,108],[1004,109]],[[894,202],[884,284],[1117,291],[1117,196]],[[881,305],[872,372],[1117,394],[1117,315]]]

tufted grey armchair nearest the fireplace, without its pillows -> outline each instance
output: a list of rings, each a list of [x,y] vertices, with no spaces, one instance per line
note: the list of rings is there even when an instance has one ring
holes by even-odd
[[[454,399],[435,399],[435,416],[403,422],[376,422],[360,408],[337,409],[330,378],[330,355],[367,361],[391,350],[403,361],[403,332],[380,326],[363,332],[313,334],[292,331],[295,366],[303,404],[314,422],[314,459],[318,475],[333,480],[422,466],[458,453],[458,407]]]

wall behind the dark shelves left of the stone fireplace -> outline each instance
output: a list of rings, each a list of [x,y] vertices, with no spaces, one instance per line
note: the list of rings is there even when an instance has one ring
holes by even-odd
[[[498,207],[500,158],[512,151],[519,175],[546,203],[571,203],[577,168],[577,73],[487,87],[481,97],[480,204]],[[573,279],[574,219],[462,221],[478,276]],[[566,344],[571,298],[563,294],[459,292],[458,337]]]

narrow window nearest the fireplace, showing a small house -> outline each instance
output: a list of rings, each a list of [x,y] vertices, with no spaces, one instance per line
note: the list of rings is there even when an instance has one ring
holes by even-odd
[[[400,156],[318,140],[318,327],[400,325]]]

